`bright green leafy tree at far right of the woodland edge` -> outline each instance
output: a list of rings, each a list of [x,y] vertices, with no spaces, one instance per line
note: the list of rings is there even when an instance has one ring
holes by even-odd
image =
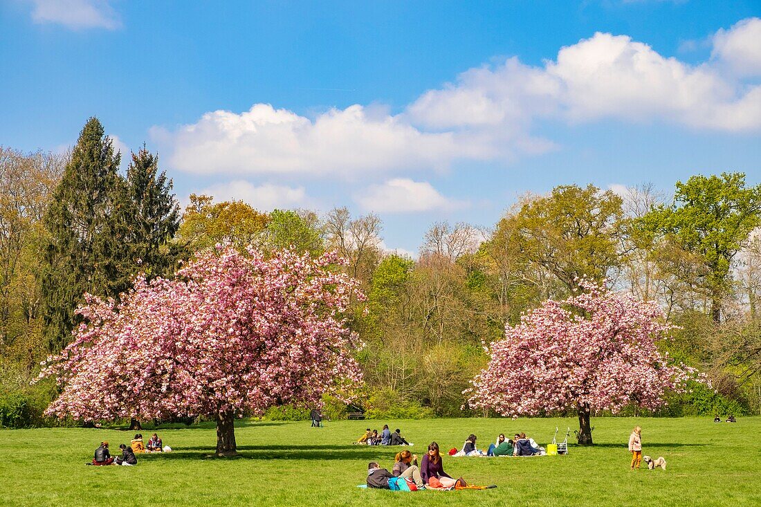
[[[732,260],[761,225],[761,185],[746,188],[745,174],[690,177],[677,181],[674,202],[658,206],[639,225],[661,243],[673,242],[699,256],[705,275],[695,280],[711,302],[711,317],[721,320],[722,301],[732,289]]]

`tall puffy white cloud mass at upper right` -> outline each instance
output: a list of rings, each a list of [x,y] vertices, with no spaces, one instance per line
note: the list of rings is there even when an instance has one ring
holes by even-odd
[[[729,36],[736,30],[745,27],[735,25]],[[750,53],[733,48],[721,57],[739,54]],[[761,87],[734,81],[715,65],[688,65],[610,33],[563,47],[543,68],[511,58],[495,68],[471,69],[455,85],[428,91],[409,107],[415,120],[438,128],[515,126],[549,117],[570,123],[662,120],[740,131],[759,129],[759,112]]]

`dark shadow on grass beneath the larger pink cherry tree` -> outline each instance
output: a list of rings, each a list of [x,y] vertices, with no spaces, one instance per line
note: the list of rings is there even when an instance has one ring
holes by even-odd
[[[388,448],[384,448],[388,449]],[[396,450],[397,448],[391,448]],[[217,458],[214,447],[193,446],[172,452],[146,454],[153,460],[254,459],[254,460],[377,460],[383,456],[377,447],[368,445],[238,445],[240,456]]]

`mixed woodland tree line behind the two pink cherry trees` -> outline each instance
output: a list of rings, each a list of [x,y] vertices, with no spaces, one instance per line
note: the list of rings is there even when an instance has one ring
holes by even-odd
[[[431,225],[412,259],[382,250],[377,215],[345,208],[262,212],[193,195],[181,211],[157,155],[139,148],[124,173],[122,155],[95,118],[65,154],[0,147],[2,426],[39,423],[52,387],[28,382],[71,339],[85,293],[118,301],[138,273],[170,276],[217,244],[345,257],[335,269],[368,296],[350,325],[366,343],[356,359],[371,416],[488,415],[463,394],[483,346],[584,279],[658,301],[679,326],[661,348],[708,373],[711,387],[664,413],[761,411],[761,185],[743,174],[696,175],[673,196],[651,185],[526,194],[489,228]]]

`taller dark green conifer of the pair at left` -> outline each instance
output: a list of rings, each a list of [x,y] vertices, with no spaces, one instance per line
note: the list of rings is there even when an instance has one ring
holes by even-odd
[[[119,267],[128,251],[119,217],[128,203],[120,197],[119,159],[100,121],[88,120],[43,218],[43,333],[51,351],[68,343],[85,292],[116,296],[123,289]]]

